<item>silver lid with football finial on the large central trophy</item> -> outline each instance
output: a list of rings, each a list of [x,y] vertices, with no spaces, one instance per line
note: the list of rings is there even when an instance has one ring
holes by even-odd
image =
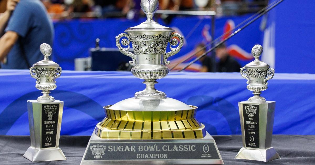
[[[141,0],[141,9],[146,14],[147,20],[138,26],[129,27],[125,32],[175,32],[172,28],[164,27],[153,20],[158,5],[158,0]]]

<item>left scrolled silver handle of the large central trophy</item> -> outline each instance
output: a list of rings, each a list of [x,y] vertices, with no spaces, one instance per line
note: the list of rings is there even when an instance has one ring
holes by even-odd
[[[128,48],[123,48],[123,47],[121,47],[121,44],[120,44],[120,38],[122,38],[122,37],[126,37],[126,38],[124,38],[122,41],[121,41],[121,43],[124,45],[124,46],[127,46],[128,45]],[[118,47],[118,49],[119,49],[119,51],[121,52],[121,53],[123,53],[124,55],[126,55],[126,56],[129,56],[129,57],[131,57],[132,58],[132,61],[129,61],[129,64],[130,65],[135,65],[135,63],[136,63],[136,56],[135,56],[135,54],[133,54],[132,52],[130,52],[130,51],[128,51],[129,49],[130,49],[130,37],[129,37],[129,35],[128,34],[126,34],[126,33],[121,33],[121,34],[119,34],[117,37],[116,37],[116,46]]]

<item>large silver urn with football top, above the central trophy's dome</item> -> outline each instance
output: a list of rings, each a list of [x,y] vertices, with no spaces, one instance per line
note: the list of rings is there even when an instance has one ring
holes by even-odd
[[[147,20],[138,26],[128,28],[125,30],[126,33],[116,37],[116,46],[120,52],[132,58],[129,62],[135,65],[131,69],[132,74],[143,79],[143,83],[146,84],[146,89],[136,92],[135,98],[166,98],[166,94],[157,91],[154,85],[157,79],[169,73],[169,68],[165,66],[170,63],[167,59],[178,53],[184,42],[184,37],[174,33],[172,28],[164,27],[153,20],[157,8],[157,0],[141,0],[141,9],[146,14]],[[130,41],[134,53],[129,51]],[[166,53],[168,43],[171,51]],[[127,47],[123,48],[122,45]],[[176,45],[178,45],[176,48],[172,47]]]

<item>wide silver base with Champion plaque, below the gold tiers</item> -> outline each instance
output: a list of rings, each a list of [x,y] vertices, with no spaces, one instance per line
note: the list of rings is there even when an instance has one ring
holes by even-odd
[[[92,134],[81,165],[86,164],[224,164],[215,140],[114,139]]]

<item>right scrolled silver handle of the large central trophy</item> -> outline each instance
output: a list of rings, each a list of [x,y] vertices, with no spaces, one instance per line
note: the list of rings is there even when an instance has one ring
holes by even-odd
[[[175,39],[174,37],[178,37],[180,39],[180,43],[178,43],[177,39]],[[172,39],[174,38],[174,39]],[[164,64],[169,64],[170,62],[167,61],[167,58],[169,58],[170,56],[174,56],[175,54],[177,54],[181,47],[183,46],[184,44],[184,37],[181,36],[180,34],[178,33],[173,33],[170,38],[169,38],[169,43],[171,44],[169,47],[171,49],[170,52],[166,53],[164,55]],[[178,44],[178,47],[177,48],[172,48],[172,46],[176,46]]]

